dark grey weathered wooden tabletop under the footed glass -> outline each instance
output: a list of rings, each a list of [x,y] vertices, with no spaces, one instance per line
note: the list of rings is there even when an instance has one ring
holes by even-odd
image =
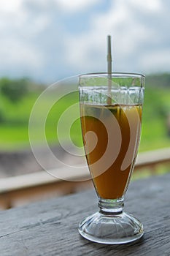
[[[125,211],[144,224],[132,244],[103,245],[82,238],[77,226],[97,209],[93,190],[1,211],[1,256],[170,255],[170,174],[131,182]]]

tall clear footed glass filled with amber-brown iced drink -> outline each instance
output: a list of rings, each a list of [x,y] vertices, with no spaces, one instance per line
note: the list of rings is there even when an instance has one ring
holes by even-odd
[[[139,146],[144,75],[80,75],[79,91],[82,139],[99,207],[79,232],[102,244],[135,241],[143,225],[123,211],[123,202]]]

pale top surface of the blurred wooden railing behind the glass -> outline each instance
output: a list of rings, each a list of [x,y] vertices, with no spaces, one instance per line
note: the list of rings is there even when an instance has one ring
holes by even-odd
[[[135,170],[145,166],[157,165],[160,163],[170,163],[170,148],[161,148],[155,151],[147,151],[140,153],[136,159]],[[50,175],[52,173],[52,175]],[[27,173],[20,176],[12,176],[0,179],[0,193],[12,192],[15,190],[24,190],[32,187],[41,187],[46,184],[61,183],[64,181],[86,181],[90,178],[90,173],[87,168],[82,168],[77,171],[77,168],[58,168],[45,170],[36,173]]]

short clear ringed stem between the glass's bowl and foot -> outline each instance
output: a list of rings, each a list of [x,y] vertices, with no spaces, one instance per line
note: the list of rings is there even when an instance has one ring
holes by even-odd
[[[98,199],[99,212],[104,215],[119,215],[123,213],[124,198]]]

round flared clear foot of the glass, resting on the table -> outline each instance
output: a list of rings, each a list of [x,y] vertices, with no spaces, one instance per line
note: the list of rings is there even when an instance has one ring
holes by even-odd
[[[97,212],[82,220],[79,233],[101,244],[126,244],[143,236],[143,225],[130,214],[102,214]]]

